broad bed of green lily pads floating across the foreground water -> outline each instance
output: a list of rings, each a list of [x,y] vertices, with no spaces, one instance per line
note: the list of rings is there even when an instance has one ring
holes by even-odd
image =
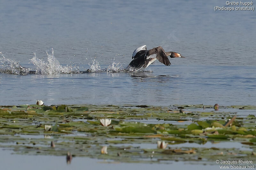
[[[69,150],[77,157],[132,163],[159,164],[160,161],[161,164],[162,160],[180,160],[204,164],[214,162],[220,156],[223,160],[232,157],[256,161],[252,153],[252,150],[256,151],[255,118],[241,110],[249,107],[239,107],[240,110],[228,107],[231,112],[224,112],[227,107],[223,106],[218,112],[207,112],[203,106],[183,106],[187,114],[176,113],[177,106],[30,105],[28,110],[27,105],[17,108],[0,106],[0,113],[3,113],[0,115],[0,147],[30,155],[64,156]],[[44,110],[46,107],[52,109]],[[250,113],[254,112],[252,110]],[[232,127],[221,126],[234,116],[237,117]],[[101,118],[111,118],[111,125],[101,126]],[[195,123],[188,123],[191,119]],[[45,124],[52,125],[52,131],[45,132]],[[201,133],[203,130],[204,133]],[[163,149],[156,148],[159,140],[169,143],[165,150],[170,156]],[[51,141],[54,141],[55,148],[50,147]],[[225,142],[230,147],[226,148],[227,144],[224,144],[221,148],[207,148],[203,145],[207,141],[220,145]],[[244,144],[244,147],[232,148],[234,143]],[[175,144],[175,148],[172,148],[172,144]],[[108,154],[100,154],[103,145],[108,146]],[[195,156],[191,157],[190,154],[195,152]]]

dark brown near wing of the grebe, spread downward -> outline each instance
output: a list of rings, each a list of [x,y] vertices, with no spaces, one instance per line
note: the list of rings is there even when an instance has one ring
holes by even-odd
[[[148,50],[145,55],[145,60],[149,58],[156,58],[160,63],[167,66],[171,65],[170,60],[161,46]]]

